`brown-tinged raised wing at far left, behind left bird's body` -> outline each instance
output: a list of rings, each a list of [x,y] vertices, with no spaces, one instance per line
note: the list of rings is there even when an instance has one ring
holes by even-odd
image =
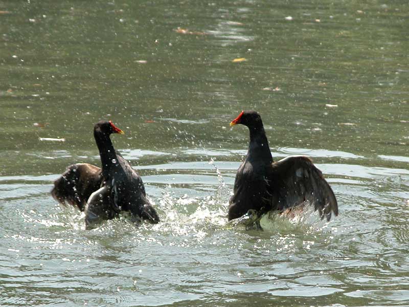
[[[72,164],[54,181],[51,195],[62,205],[68,203],[84,211],[89,196],[101,183],[101,168],[87,163]]]

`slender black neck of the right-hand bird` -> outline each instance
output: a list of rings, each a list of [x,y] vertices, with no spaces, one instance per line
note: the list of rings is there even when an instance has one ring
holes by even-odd
[[[261,125],[249,127],[248,129],[250,130],[250,143],[248,145],[247,160],[271,164],[272,156],[264,127]]]

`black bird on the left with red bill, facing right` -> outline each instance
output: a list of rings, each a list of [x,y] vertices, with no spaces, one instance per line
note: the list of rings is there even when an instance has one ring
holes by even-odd
[[[62,204],[69,203],[85,211],[85,226],[94,228],[121,211],[129,211],[133,222],[148,220],[158,223],[156,210],[146,198],[138,172],[113,148],[110,135],[123,134],[110,121],[94,126],[101,168],[90,164],[74,164],[54,182],[51,191]]]

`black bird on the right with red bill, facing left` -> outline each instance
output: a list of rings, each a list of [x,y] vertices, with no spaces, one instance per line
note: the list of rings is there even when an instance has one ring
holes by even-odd
[[[260,115],[243,111],[230,125],[243,124],[250,132],[247,156],[237,170],[229,220],[253,209],[283,211],[312,204],[328,221],[338,215],[335,195],[322,172],[305,156],[291,156],[274,162]]]

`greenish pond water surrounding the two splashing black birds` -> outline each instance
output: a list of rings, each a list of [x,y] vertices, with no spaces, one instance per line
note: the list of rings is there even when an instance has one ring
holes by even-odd
[[[409,305],[407,16],[400,1],[0,0],[0,305]],[[335,220],[226,222],[242,109],[276,160],[312,157]],[[100,119],[125,131],[113,143],[162,223],[85,231],[51,198],[67,165],[99,165]]]

